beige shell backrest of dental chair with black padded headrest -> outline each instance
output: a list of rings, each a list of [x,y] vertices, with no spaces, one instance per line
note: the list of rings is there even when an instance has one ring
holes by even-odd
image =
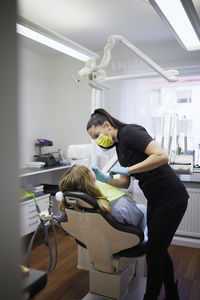
[[[87,247],[96,270],[113,272],[113,255],[133,249],[144,239],[143,232],[117,222],[102,212],[96,199],[82,192],[64,192],[67,222],[62,227]],[[133,255],[135,256],[135,255]]]

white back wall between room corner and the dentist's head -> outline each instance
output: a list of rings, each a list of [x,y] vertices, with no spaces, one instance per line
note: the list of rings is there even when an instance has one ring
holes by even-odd
[[[91,114],[91,88],[86,81],[77,87],[72,79],[83,66],[68,56],[52,60],[51,133],[65,152],[70,144],[90,143],[86,124]]]

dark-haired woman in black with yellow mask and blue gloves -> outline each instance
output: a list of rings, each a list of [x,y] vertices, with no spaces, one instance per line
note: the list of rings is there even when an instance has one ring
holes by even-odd
[[[187,208],[186,188],[168,165],[167,155],[142,126],[122,123],[104,109],[96,109],[88,121],[87,131],[100,147],[115,147],[121,165],[113,167],[109,175],[95,167],[97,179],[128,188],[130,176],[134,176],[148,200],[144,300],[156,300],[163,282],[166,300],[178,300],[177,282],[167,249]],[[114,174],[120,177],[114,178]]]

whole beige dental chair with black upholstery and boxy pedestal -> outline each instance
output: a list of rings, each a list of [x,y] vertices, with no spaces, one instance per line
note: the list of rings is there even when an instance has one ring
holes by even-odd
[[[138,257],[143,257],[144,270],[144,232],[101,211],[86,193],[67,191],[63,196],[67,221],[61,226],[78,243],[77,267],[89,270],[90,293],[84,299],[129,299],[129,284],[141,273]]]

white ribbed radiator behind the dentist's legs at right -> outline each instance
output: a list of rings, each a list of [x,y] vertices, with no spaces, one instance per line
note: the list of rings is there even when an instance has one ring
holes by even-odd
[[[200,189],[187,188],[190,196],[176,235],[200,238]]]

